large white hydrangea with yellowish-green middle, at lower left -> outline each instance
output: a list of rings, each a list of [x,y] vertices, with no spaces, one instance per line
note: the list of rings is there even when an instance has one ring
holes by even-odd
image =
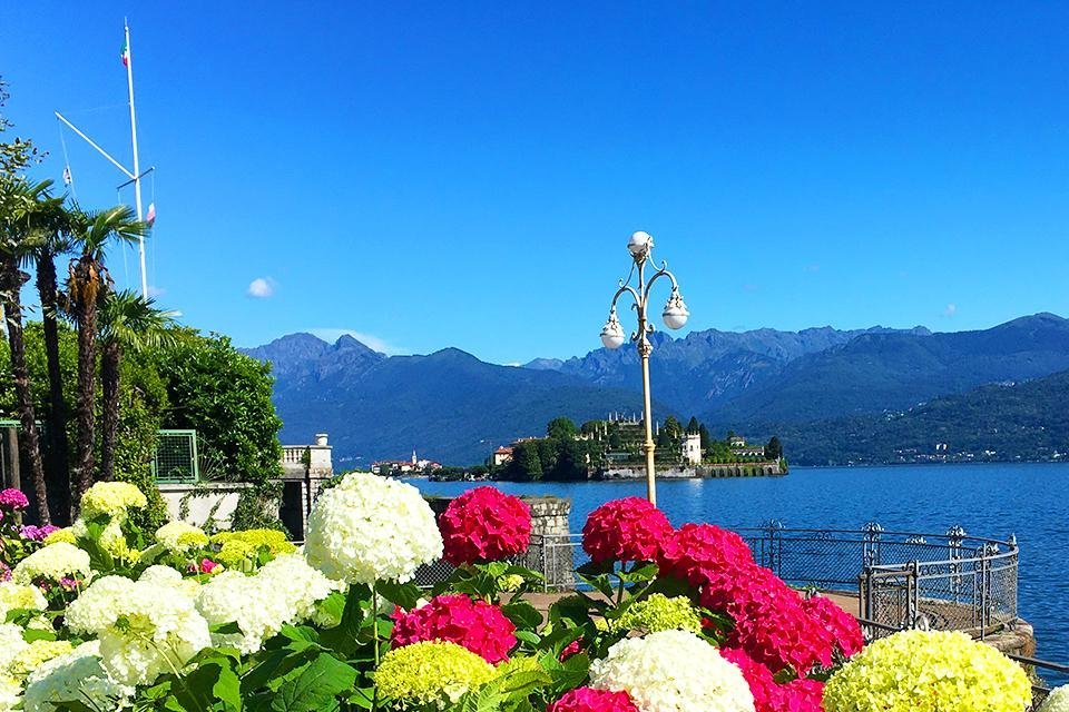
[[[169,585],[105,576],[68,606],[67,625],[97,635],[101,664],[116,681],[148,684],[212,644],[193,599],[175,593]]]

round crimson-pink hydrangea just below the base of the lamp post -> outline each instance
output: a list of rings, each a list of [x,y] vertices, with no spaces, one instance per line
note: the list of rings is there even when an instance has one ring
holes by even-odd
[[[582,550],[590,561],[657,561],[661,543],[673,534],[665,513],[641,497],[606,502],[587,517]]]

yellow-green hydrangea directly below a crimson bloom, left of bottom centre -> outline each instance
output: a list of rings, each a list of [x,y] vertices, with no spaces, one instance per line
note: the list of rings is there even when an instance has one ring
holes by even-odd
[[[425,641],[392,650],[374,673],[381,696],[439,710],[455,704],[467,692],[484,685],[497,674],[482,656],[444,641]]]

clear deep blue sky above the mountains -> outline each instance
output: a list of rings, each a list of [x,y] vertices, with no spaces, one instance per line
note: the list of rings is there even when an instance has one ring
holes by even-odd
[[[128,161],[129,17],[150,283],[239,345],[582,354],[635,229],[688,329],[1069,314],[1069,6],[656,4],[11,3],[0,73]]]

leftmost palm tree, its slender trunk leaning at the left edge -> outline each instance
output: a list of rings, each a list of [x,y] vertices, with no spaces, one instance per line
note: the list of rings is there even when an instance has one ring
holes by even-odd
[[[50,180],[31,185],[21,178],[0,177],[0,303],[7,318],[11,376],[22,429],[19,443],[30,466],[30,483],[41,524],[50,524],[51,516],[22,334],[20,293],[29,275],[20,269],[19,263],[31,251],[35,240],[50,229],[50,222],[62,205],[62,199],[49,195],[50,187]]]

